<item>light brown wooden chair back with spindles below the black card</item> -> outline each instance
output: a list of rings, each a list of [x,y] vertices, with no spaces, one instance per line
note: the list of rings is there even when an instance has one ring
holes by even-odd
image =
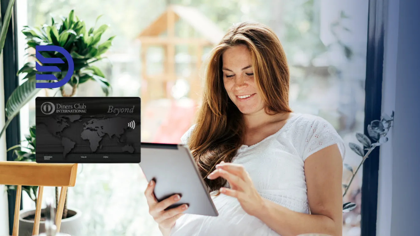
[[[61,187],[60,199],[55,215],[57,232],[60,232],[67,187],[73,187],[76,184],[76,172],[77,164],[0,161],[0,184],[17,185],[12,236],[18,236],[22,186],[39,186],[32,235],[39,234],[39,220],[41,218],[44,186]]]

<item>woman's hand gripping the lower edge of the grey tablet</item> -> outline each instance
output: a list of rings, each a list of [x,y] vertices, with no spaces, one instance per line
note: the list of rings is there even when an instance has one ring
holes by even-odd
[[[178,194],[175,194],[163,201],[157,202],[153,189],[155,189],[155,181],[152,180],[144,191],[147,205],[149,205],[149,214],[152,215],[153,219],[159,225],[163,235],[169,235],[169,232],[171,232],[172,227],[175,225],[175,221],[183,215],[182,212],[184,212],[188,206],[183,204],[176,208],[165,210],[167,207],[178,202],[181,197]]]

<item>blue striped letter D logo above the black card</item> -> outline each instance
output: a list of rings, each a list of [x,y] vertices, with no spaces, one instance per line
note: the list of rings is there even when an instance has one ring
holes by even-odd
[[[45,58],[44,56],[39,53],[39,51],[55,51],[60,52],[63,56],[67,59],[68,63],[68,71],[66,76],[60,81],[54,83],[45,83],[45,82],[38,82],[36,83],[35,87],[37,89],[53,89],[58,88],[66,84],[73,76],[74,71],[74,63],[73,58],[71,58],[70,53],[68,53],[63,47],[54,46],[54,45],[37,45],[35,46],[35,57],[42,63],[64,63],[61,58]],[[36,62],[35,68],[39,72],[60,72],[60,69],[57,66],[41,66],[38,62]],[[53,74],[36,74],[36,80],[57,80]]]

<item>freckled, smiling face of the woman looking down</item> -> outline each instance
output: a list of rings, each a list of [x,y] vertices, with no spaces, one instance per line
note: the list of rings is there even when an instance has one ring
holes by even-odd
[[[223,52],[222,60],[223,84],[236,107],[244,114],[264,109],[248,48],[245,45],[231,47]]]

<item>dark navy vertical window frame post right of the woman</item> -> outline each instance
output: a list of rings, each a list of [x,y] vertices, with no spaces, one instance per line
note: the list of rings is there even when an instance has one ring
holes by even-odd
[[[369,0],[367,19],[367,53],[365,78],[365,126],[381,117],[384,53],[385,5],[382,0]],[[376,235],[378,212],[379,148],[363,163],[360,235]]]

